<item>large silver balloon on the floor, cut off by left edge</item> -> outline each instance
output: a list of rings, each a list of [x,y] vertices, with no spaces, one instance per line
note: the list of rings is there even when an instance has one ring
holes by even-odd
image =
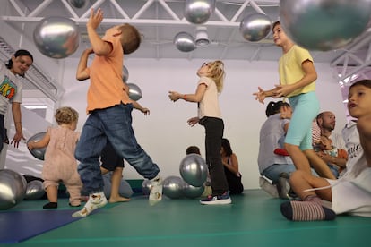
[[[26,179],[9,169],[0,170],[0,210],[10,209],[23,200]]]

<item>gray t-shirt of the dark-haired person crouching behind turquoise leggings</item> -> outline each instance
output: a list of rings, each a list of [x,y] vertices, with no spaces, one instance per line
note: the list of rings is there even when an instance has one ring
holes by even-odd
[[[294,164],[289,156],[274,154],[274,149],[281,148],[279,140],[285,135],[285,124],[289,119],[280,119],[280,113],[270,115],[260,129],[260,144],[258,155],[259,172],[273,164]]]

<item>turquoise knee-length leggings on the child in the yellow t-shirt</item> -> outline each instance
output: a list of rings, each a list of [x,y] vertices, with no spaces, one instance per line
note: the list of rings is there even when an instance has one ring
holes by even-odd
[[[293,113],[285,143],[298,146],[301,150],[312,147],[312,122],[319,112],[319,101],[315,91],[289,98]]]

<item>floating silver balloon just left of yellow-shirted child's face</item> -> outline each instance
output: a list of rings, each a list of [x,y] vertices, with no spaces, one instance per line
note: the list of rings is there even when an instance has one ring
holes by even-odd
[[[266,38],[272,29],[272,21],[268,15],[263,13],[252,13],[239,24],[239,31],[242,36],[251,42],[260,41]]]

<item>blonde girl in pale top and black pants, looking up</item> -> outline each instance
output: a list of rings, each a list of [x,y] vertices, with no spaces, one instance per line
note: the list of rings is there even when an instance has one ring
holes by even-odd
[[[209,166],[212,194],[200,200],[202,204],[229,204],[229,186],[221,163],[220,149],[224,123],[221,119],[219,94],[223,88],[224,64],[217,60],[203,63],[198,69],[200,77],[194,94],[181,94],[169,91],[172,101],[183,99],[198,104],[198,115],[188,119],[188,124],[201,124],[205,128],[206,163]]]

